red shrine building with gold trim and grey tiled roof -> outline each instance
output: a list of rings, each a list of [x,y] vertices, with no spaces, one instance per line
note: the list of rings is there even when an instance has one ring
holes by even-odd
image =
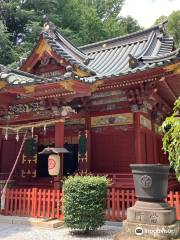
[[[169,164],[159,126],[180,96],[180,49],[164,24],[75,47],[46,24],[18,70],[0,66],[0,180],[56,188],[45,147],[65,147],[61,178],[108,175],[133,188],[131,163]],[[169,189],[178,189],[173,171]]]

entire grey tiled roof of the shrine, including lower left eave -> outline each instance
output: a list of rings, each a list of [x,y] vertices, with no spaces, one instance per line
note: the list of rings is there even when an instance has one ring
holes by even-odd
[[[81,78],[84,82],[145,71],[180,58],[180,50],[174,50],[173,38],[165,34],[164,24],[80,48],[76,48],[53,27],[44,30],[41,36],[70,64],[90,73],[90,77]],[[0,70],[2,79],[4,72]],[[19,70],[7,72],[6,80],[11,85],[56,81],[55,78],[46,79]],[[58,80],[64,80],[64,76]]]

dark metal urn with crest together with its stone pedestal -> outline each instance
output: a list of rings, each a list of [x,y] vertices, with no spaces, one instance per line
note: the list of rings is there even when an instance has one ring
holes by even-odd
[[[127,220],[114,240],[180,240],[180,224],[167,197],[169,165],[131,164],[139,201],[127,209]]]

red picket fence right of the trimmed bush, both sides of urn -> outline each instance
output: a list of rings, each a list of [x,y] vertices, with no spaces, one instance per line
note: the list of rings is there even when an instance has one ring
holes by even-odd
[[[135,204],[134,190],[109,188],[107,196],[106,219],[110,221],[123,221],[127,217],[127,208]],[[169,192],[166,201],[176,208],[177,220],[180,220],[180,192]]]

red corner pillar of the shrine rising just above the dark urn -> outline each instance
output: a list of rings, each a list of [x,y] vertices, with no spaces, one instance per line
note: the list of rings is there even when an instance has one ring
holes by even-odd
[[[134,113],[135,163],[143,163],[141,146],[140,113]]]

